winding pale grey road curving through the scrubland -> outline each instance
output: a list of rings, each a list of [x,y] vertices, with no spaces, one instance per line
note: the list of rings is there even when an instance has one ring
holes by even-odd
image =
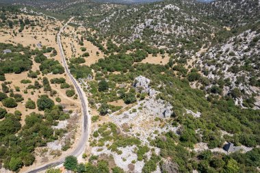
[[[90,131],[90,115],[88,114],[88,100],[81,89],[81,86],[79,83],[77,83],[76,79],[73,77],[73,75],[70,74],[70,71],[68,70],[68,66],[66,64],[66,57],[64,55],[64,50],[62,48],[62,42],[60,40],[60,34],[62,34],[62,31],[64,31],[64,28],[68,25],[68,23],[72,20],[73,18],[70,18],[70,20],[60,29],[59,33],[57,34],[57,44],[60,49],[60,54],[62,56],[62,64],[65,68],[66,74],[70,78],[70,80],[73,82],[73,85],[75,86],[77,93],[79,95],[80,101],[81,101],[81,113],[82,113],[82,130],[81,130],[81,137],[79,139],[79,142],[75,149],[68,153],[68,155],[73,155],[75,157],[81,156],[83,151],[85,150],[86,143],[88,142],[88,135]],[[47,170],[48,168],[61,165],[64,163],[65,158],[68,155],[64,155],[61,159],[58,159],[57,161],[53,161],[52,163],[48,163],[45,165],[41,165],[38,168],[35,168],[34,170],[29,170],[26,173],[37,173],[37,172],[42,172],[44,170]]]

